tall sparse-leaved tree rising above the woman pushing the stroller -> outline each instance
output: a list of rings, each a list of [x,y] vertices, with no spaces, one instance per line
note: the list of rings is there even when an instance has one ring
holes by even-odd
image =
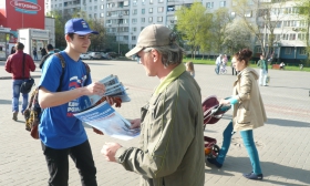
[[[266,58],[275,51],[275,43],[279,42],[276,39],[275,29],[285,17],[281,11],[283,4],[282,0],[232,0],[234,12],[255,35],[254,42],[261,45],[262,54]]]

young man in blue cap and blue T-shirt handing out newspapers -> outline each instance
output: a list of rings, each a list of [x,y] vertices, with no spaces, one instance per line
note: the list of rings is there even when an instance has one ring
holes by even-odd
[[[91,75],[80,61],[91,44],[90,29],[83,19],[71,19],[65,23],[66,49],[60,54],[65,60],[62,69],[60,58],[50,56],[42,68],[39,84],[39,104],[43,110],[39,136],[50,173],[50,186],[68,186],[69,155],[75,163],[83,186],[96,186],[96,168],[91,146],[82,122],[73,116],[83,108],[86,95],[103,95],[103,84],[92,83]],[[62,75],[62,71],[63,75]],[[61,80],[61,76],[63,79]]]

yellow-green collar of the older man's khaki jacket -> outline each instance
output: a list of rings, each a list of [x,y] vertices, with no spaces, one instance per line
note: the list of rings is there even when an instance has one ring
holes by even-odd
[[[162,93],[175,79],[177,79],[183,72],[185,72],[186,68],[183,63],[177,65],[165,79],[162,83],[156,87],[155,95]]]

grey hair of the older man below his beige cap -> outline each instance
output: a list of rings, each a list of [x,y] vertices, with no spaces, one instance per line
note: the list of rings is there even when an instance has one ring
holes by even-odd
[[[174,43],[173,45],[145,48],[143,51],[147,53],[153,49],[162,54],[162,63],[166,68],[172,64],[180,64],[183,61],[184,50],[178,44]]]

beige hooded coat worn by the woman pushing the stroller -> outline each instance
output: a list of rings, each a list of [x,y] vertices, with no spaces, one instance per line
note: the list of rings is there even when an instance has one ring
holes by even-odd
[[[251,69],[244,69],[234,83],[232,95],[238,100],[234,105],[234,131],[247,131],[267,122],[264,103],[257,84],[259,75]]]

